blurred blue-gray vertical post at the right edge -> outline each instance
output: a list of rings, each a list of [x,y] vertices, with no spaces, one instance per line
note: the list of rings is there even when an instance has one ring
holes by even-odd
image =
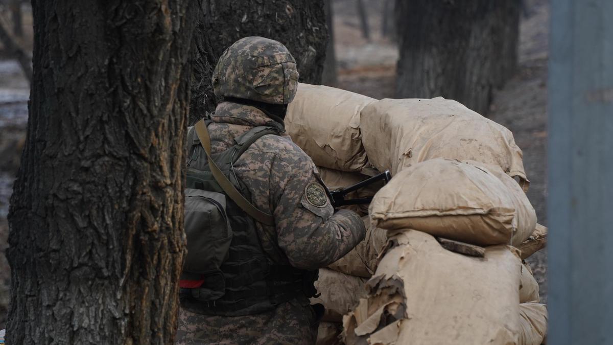
[[[613,1],[550,4],[548,343],[613,344]]]

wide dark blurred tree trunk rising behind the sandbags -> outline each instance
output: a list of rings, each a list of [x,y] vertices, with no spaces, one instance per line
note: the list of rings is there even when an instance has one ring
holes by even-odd
[[[520,0],[397,0],[397,97],[443,96],[487,114],[517,66],[519,12]]]

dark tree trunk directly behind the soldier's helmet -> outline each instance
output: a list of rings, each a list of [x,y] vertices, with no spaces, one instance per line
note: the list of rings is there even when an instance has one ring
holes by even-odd
[[[194,72],[199,75],[194,76],[192,105],[198,107],[190,110],[190,123],[215,110],[219,100],[210,87],[212,69],[221,53],[243,37],[262,36],[283,43],[296,59],[300,82],[321,83],[328,41],[324,0],[203,0],[202,10],[197,35],[204,41],[215,39],[210,41],[210,51],[195,52],[200,70]]]

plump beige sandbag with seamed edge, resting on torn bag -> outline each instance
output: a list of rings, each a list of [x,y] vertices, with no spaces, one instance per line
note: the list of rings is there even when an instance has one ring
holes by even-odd
[[[371,221],[478,246],[520,244],[535,230],[536,212],[519,185],[495,169],[444,158],[405,168],[376,193]]]

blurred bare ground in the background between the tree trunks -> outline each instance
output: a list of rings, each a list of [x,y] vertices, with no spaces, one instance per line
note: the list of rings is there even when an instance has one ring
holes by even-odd
[[[381,35],[380,0],[365,0],[371,40],[360,33],[356,2],[334,0],[335,40],[338,58],[337,87],[373,98],[394,98],[397,48],[389,37]],[[520,26],[519,69],[501,90],[495,93],[490,113],[492,120],[514,133],[524,151],[524,165],[531,181],[528,198],[536,209],[539,223],[546,220],[546,101],[547,101],[547,29],[549,6],[546,0],[528,1],[528,14]],[[26,12],[27,15],[27,12]],[[29,22],[26,20],[26,25]],[[31,29],[26,36],[31,36]],[[2,56],[0,56],[0,59]],[[17,173],[18,157],[28,118],[29,85],[17,63],[0,60],[0,329],[5,327],[9,301],[9,267],[4,257],[8,226],[6,214],[12,180]],[[546,251],[528,260],[547,301]]]

